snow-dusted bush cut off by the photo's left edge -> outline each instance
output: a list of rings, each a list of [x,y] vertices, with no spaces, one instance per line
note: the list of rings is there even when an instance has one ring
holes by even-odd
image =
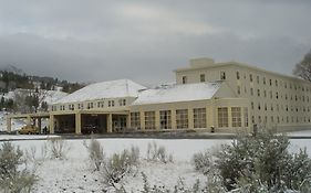
[[[37,178],[23,165],[23,152],[11,142],[0,148],[0,192],[31,192]]]

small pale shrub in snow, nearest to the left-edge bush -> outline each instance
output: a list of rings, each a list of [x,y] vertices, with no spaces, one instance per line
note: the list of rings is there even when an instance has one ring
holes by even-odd
[[[51,138],[48,141],[48,148],[51,153],[51,159],[62,160],[66,158],[66,153],[70,151],[71,148],[65,140],[61,138]]]

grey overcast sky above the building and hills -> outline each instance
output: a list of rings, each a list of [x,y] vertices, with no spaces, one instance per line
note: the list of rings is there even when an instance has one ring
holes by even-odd
[[[193,57],[291,74],[310,0],[0,0],[0,66],[74,82],[175,81]]]

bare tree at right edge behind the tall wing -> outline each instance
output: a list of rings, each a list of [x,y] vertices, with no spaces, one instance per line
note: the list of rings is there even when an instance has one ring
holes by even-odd
[[[304,55],[300,63],[296,64],[293,74],[311,82],[311,50]]]

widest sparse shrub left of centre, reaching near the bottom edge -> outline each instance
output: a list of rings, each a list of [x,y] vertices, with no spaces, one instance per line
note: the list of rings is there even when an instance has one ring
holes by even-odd
[[[122,191],[122,179],[138,167],[139,149],[132,147],[131,150],[123,150],[121,153],[114,153],[103,164],[104,183],[117,191]],[[124,192],[124,190],[123,190]]]

